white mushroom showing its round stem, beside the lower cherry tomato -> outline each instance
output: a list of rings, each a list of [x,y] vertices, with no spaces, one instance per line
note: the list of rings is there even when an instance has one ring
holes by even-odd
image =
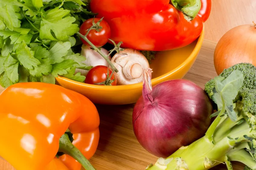
[[[126,48],[116,53],[111,62],[116,67],[117,85],[130,85],[143,81],[143,70],[149,68],[146,57],[137,50]]]

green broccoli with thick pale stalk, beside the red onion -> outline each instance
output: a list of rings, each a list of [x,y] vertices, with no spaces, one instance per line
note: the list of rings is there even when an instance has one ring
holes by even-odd
[[[239,63],[205,84],[216,105],[215,117],[205,136],[180,147],[168,158],[159,158],[147,170],[208,170],[231,161],[256,170],[256,67]]]

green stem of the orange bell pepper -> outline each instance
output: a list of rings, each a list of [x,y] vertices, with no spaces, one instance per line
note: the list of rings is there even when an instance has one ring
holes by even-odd
[[[59,150],[58,152],[63,152],[74,159],[76,159],[86,170],[95,170],[95,168],[90,164],[90,162],[84,157],[80,150],[75,147],[67,133],[64,133],[59,139]]]

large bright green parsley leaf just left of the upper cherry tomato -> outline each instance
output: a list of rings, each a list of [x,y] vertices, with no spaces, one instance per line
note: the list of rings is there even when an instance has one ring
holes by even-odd
[[[40,38],[42,40],[48,39],[52,41],[68,40],[68,36],[73,36],[79,27],[73,24],[76,18],[67,16],[70,14],[69,10],[63,8],[54,8],[47,11],[47,15],[41,21]],[[55,37],[53,37],[52,32]]]

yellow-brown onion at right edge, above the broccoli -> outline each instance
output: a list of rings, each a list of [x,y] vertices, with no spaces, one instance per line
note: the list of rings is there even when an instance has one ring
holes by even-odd
[[[256,23],[230,29],[216,45],[214,66],[218,75],[242,62],[256,66]]]

